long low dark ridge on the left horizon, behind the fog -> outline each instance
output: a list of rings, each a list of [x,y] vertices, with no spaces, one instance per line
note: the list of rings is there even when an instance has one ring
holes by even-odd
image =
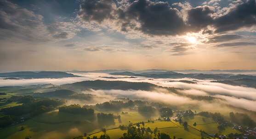
[[[66,72],[61,71],[18,71],[9,73],[0,73],[0,77],[4,78],[22,78],[22,79],[40,79],[40,78],[66,78],[66,77],[79,77]]]

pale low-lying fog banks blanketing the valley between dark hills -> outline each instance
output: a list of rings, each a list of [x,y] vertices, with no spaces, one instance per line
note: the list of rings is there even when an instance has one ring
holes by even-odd
[[[108,75],[105,73],[74,73],[81,77],[71,77],[62,79],[26,79],[26,80],[3,80],[0,79],[0,86],[28,86],[38,84],[54,84],[62,85],[67,83],[74,83],[83,80],[124,80],[130,82],[148,82],[158,86],[176,87],[184,90],[179,91],[182,94],[195,95],[195,96],[215,96],[222,98],[226,103],[234,107],[240,107],[251,111],[256,111],[256,89],[231,86],[222,83],[213,83],[211,80],[196,80],[190,78],[182,79],[150,79],[147,77],[130,78],[130,76],[121,75]],[[117,79],[108,79],[104,77],[115,77]],[[188,84],[182,82],[170,82],[170,80],[190,80],[196,84]],[[102,101],[108,101],[116,97],[129,97],[134,99],[147,99],[155,102],[165,102],[171,104],[200,104],[206,107],[207,103],[192,100],[185,96],[179,96],[174,93],[166,93],[166,90],[154,91],[120,91],[120,90],[92,90],[91,93],[102,98]],[[204,103],[204,104],[203,104]],[[217,104],[218,102],[216,102]]]

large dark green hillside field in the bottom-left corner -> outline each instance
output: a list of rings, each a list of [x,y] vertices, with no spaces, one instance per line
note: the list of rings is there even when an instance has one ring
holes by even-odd
[[[26,129],[19,131],[21,126],[25,126]],[[93,127],[94,123],[89,123],[82,115],[48,112],[23,123],[0,129],[0,135],[3,139],[24,139],[23,134],[35,139],[69,139],[92,131]]]

